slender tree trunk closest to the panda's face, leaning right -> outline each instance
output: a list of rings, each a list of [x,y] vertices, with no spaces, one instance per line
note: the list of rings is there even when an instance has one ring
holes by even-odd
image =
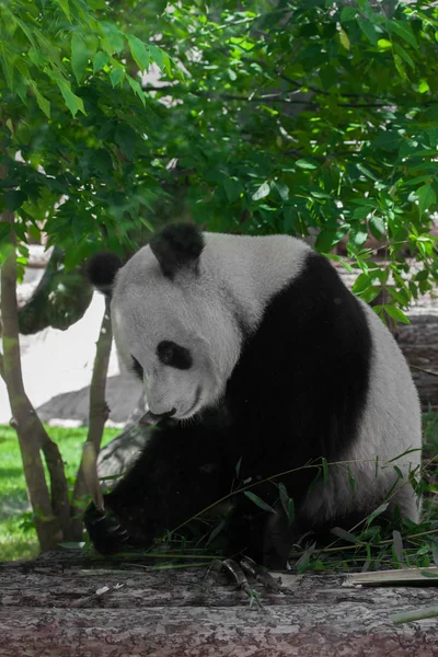
[[[87,442],[93,445],[96,453],[99,453],[101,448],[103,430],[110,414],[105,401],[105,392],[112,341],[113,332],[111,326],[110,299],[105,298],[105,311],[96,342],[96,355],[91,378],[89,434],[87,438]],[[83,508],[80,503],[81,498],[83,498],[87,493],[89,493],[89,491],[87,489],[82,458],[74,483],[72,499],[72,514],[76,516],[73,517],[73,534],[76,540],[80,540],[82,537],[82,520],[78,516],[82,515]]]

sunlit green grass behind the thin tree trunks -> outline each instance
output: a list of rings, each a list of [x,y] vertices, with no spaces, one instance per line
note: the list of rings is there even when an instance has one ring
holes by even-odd
[[[105,429],[103,445],[119,433],[119,429]],[[71,491],[87,427],[50,427],[50,436],[60,449]],[[0,561],[32,558],[38,551],[16,434],[9,426],[0,426]]]

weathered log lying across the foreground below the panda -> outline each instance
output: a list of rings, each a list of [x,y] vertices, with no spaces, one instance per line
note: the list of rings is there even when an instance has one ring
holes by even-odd
[[[0,564],[0,656],[438,654],[436,620],[390,620],[429,607],[430,588],[364,589],[345,586],[342,574],[289,572],[275,574],[287,592],[250,583],[260,592],[261,611],[224,575],[203,588],[204,565],[158,570],[150,563],[49,554]]]

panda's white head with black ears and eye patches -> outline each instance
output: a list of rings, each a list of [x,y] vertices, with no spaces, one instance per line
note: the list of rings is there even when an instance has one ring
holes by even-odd
[[[242,335],[211,247],[193,224],[168,226],[124,266],[112,254],[89,265],[112,296],[113,331],[151,413],[176,419],[215,405],[239,358]]]

